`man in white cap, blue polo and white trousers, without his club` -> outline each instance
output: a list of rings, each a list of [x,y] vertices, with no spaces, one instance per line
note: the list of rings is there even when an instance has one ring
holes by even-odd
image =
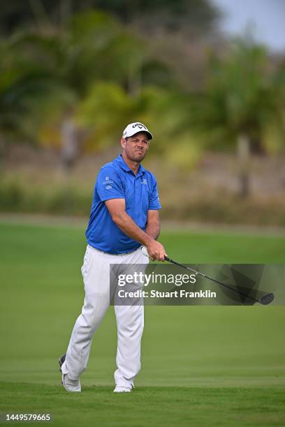
[[[87,367],[94,332],[110,305],[110,264],[163,261],[159,237],[159,195],[154,175],[140,162],[152,134],[142,123],[130,123],[121,138],[122,154],[101,167],[94,188],[82,265],[85,301],[73,327],[66,354],[59,358],[66,391],[81,391],[79,377]],[[115,392],[129,392],[140,370],[143,306],[115,306],[117,370]]]

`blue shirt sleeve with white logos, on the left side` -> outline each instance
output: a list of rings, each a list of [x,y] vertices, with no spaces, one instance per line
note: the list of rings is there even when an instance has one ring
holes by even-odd
[[[120,179],[119,174],[113,167],[103,167],[101,169],[97,177],[96,187],[101,202],[125,198],[122,179]]]

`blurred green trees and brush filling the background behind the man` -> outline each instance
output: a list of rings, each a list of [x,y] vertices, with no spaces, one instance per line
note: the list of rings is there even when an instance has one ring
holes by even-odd
[[[154,134],[147,160],[159,164],[159,185],[167,180],[187,193],[180,177],[198,170],[207,153],[235,157],[235,192],[204,197],[203,189],[180,204],[165,192],[163,215],[283,225],[282,190],[266,204],[252,194],[250,177],[251,156],[265,163],[284,156],[284,55],[250,34],[224,39],[220,12],[207,0],[96,6],[31,0],[25,9],[17,1],[1,8],[1,210],[86,215],[97,170],[82,185],[76,165],[119,151],[126,124],[142,121]],[[17,170],[15,151],[28,146],[53,153],[45,179],[29,181]],[[24,165],[36,171],[31,157]]]

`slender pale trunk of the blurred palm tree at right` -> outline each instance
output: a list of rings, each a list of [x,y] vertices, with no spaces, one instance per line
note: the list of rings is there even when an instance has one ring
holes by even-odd
[[[240,197],[247,197],[250,193],[249,163],[249,137],[247,135],[242,134],[238,136],[238,194],[240,195]]]

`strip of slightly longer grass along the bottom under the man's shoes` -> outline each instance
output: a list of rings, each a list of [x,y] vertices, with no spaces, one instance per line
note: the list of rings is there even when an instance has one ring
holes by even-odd
[[[269,387],[141,387],[124,395],[95,386],[79,395],[26,383],[0,389],[8,412],[52,414],[54,426],[284,426],[284,392]]]

